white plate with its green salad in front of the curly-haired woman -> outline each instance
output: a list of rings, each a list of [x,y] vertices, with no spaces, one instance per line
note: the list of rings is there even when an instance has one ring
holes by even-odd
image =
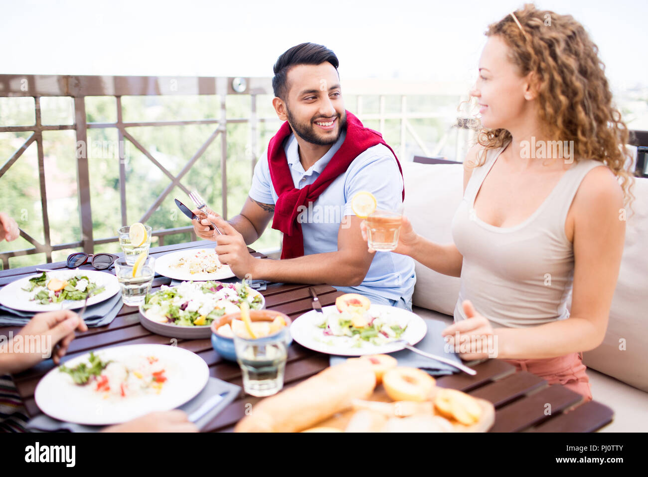
[[[303,347],[327,354],[362,356],[403,349],[399,339],[414,345],[428,332],[425,321],[395,306],[371,304],[360,313],[340,312],[334,305],[311,310],[290,326],[293,339]]]

